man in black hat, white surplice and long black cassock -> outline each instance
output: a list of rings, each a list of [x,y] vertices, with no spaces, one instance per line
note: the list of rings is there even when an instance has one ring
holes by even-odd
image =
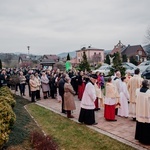
[[[96,91],[94,88],[94,84],[97,81],[97,75],[91,74],[89,77],[89,81],[86,84],[83,97],[81,100],[81,110],[79,114],[78,121],[87,125],[96,125],[95,122],[95,104],[96,100]]]

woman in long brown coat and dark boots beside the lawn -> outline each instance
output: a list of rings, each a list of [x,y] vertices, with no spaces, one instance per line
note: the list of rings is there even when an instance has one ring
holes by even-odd
[[[75,91],[70,84],[71,79],[67,76],[65,80],[66,83],[64,84],[64,110],[66,110],[68,118],[74,118],[74,116],[71,115],[71,111],[76,109],[74,102]]]

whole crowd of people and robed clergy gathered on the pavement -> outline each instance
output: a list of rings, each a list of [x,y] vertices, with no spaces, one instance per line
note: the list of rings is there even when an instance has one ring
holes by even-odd
[[[141,78],[140,70],[134,75],[121,76],[116,70],[114,76],[104,79],[96,72],[42,70],[30,68],[2,69],[0,86],[15,87],[20,96],[25,96],[28,86],[31,102],[49,97],[61,102],[61,112],[73,118],[76,109],[74,97],[81,101],[78,121],[96,125],[95,111],[104,107],[104,118],[117,121],[116,115],[136,121],[135,139],[150,144],[150,90],[149,82]],[[41,96],[41,91],[43,95]]]

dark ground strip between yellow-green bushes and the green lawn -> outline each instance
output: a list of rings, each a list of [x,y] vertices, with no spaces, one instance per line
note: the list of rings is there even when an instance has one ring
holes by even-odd
[[[30,134],[32,131],[39,131],[40,129],[24,108],[24,106],[30,102],[20,96],[15,96],[15,100],[16,106],[13,110],[16,114],[16,122],[4,149],[31,150]]]

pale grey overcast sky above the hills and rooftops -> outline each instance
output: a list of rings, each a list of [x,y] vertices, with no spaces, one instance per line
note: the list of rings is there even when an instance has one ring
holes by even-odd
[[[0,0],[0,52],[145,45],[150,0]]]

